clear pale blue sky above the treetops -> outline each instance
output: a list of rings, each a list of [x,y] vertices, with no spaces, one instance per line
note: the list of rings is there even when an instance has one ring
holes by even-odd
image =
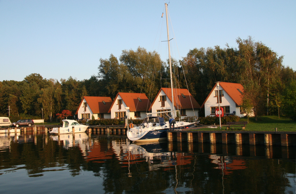
[[[194,48],[237,48],[237,38],[251,36],[296,70],[295,0],[0,0],[0,81],[32,73],[81,81],[98,74],[100,58],[119,60],[138,47],[166,60],[160,48],[167,43],[158,43],[165,38],[157,38],[166,33],[165,3],[178,57]]]

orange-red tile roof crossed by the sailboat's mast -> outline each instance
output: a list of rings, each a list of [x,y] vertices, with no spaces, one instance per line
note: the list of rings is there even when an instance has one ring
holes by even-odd
[[[159,93],[163,90],[165,92],[165,95],[168,97],[168,99],[172,102],[172,89],[171,88],[160,88],[159,92],[156,96],[159,95]],[[193,96],[190,94],[188,89],[173,89],[174,93],[174,105],[176,109],[196,109],[200,108],[200,105],[198,102],[193,98]],[[184,95],[184,97],[182,96]],[[155,102],[155,100],[158,100],[157,98],[154,99],[152,104]],[[150,109],[151,110],[151,107]]]

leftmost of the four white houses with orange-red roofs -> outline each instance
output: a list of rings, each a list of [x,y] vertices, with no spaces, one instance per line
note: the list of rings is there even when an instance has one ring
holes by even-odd
[[[110,97],[84,96],[75,114],[78,119],[86,120],[91,119],[92,115],[95,119],[111,118],[108,111],[112,102]]]

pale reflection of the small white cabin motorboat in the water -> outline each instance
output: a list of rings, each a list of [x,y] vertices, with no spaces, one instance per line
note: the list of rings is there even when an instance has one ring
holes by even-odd
[[[86,153],[89,136],[86,133],[75,133],[73,138],[73,134],[61,134],[59,136],[54,135],[50,136],[52,140],[59,141],[60,144],[63,144],[64,148],[69,148],[72,146],[79,146],[83,153]]]

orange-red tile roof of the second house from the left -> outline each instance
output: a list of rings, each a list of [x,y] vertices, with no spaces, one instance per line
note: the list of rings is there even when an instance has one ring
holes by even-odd
[[[126,106],[129,107],[129,110],[131,112],[147,111],[151,105],[150,100],[147,98],[147,96],[145,94],[118,92],[111,107],[113,106],[114,103],[116,103],[115,101],[116,101],[118,95],[120,95],[121,99],[126,104]],[[140,98],[141,101],[139,101],[138,98]],[[110,107],[108,113],[111,112],[111,107]]]

